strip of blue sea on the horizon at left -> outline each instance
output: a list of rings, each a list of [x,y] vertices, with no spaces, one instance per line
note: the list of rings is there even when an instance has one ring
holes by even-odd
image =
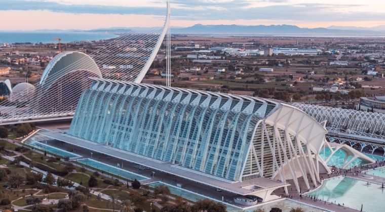
[[[62,43],[74,41],[105,40],[118,37],[116,34],[92,32],[0,32],[0,43]]]

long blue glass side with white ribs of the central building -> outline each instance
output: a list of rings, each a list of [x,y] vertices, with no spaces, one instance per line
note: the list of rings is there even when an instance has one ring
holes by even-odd
[[[236,181],[258,122],[275,108],[261,98],[94,78],[68,134]]]

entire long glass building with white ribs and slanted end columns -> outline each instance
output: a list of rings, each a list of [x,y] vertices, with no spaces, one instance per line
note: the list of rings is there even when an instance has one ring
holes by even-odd
[[[274,99],[93,78],[68,134],[229,181],[317,184],[326,129]],[[305,164],[307,165],[305,165]],[[285,169],[282,169],[285,167]],[[296,170],[296,171],[295,171]]]

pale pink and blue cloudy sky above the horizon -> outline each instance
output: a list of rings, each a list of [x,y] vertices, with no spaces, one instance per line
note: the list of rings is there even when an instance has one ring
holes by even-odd
[[[384,0],[170,0],[171,25],[385,25]],[[0,0],[0,31],[162,26],[163,0]]]

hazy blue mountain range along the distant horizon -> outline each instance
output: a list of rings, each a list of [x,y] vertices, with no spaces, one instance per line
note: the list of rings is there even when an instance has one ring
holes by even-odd
[[[135,31],[152,31],[159,27],[112,27],[92,30],[34,30],[29,32],[95,32],[95,33],[130,33]],[[19,31],[20,32],[20,31]],[[385,36],[385,25],[376,27],[342,27],[301,28],[295,25],[202,25],[190,27],[172,27],[173,34],[187,35],[373,35]]]

